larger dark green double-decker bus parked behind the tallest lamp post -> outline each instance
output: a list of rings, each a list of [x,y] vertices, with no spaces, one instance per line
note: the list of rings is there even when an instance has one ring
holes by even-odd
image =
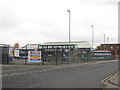
[[[68,62],[69,59],[69,44],[55,44],[55,45],[39,45],[38,51],[42,51],[43,61],[55,61],[57,59],[58,63]],[[76,53],[75,53],[76,52]],[[70,59],[77,55],[77,44],[70,45]]]

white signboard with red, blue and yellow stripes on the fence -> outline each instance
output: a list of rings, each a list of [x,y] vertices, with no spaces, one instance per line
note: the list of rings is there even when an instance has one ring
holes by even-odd
[[[28,51],[28,62],[41,62],[41,51]]]

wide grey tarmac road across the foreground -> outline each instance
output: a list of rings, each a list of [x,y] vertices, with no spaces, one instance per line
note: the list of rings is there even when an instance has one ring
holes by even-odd
[[[3,66],[3,88],[105,88],[101,81],[118,71],[118,62],[57,69],[55,66],[53,68],[15,68],[14,66],[13,68]]]

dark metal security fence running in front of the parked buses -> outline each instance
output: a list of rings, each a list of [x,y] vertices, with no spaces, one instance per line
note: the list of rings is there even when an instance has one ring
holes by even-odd
[[[68,64],[68,63],[87,63],[103,60],[114,60],[114,55],[109,56],[97,56],[92,52],[81,52],[80,50],[73,51],[69,49],[38,49],[41,51],[41,62],[28,62],[28,51],[33,51],[33,49],[23,49],[20,50],[19,57],[13,58],[15,64],[39,64],[39,65],[58,65],[58,64]],[[37,52],[36,51],[36,52]],[[93,57],[92,57],[93,56]]]

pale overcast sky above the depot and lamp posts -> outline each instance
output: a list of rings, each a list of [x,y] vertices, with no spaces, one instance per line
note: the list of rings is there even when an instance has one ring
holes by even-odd
[[[47,41],[118,41],[118,0],[1,0],[0,43],[20,46]],[[106,39],[107,43],[107,39]]]

